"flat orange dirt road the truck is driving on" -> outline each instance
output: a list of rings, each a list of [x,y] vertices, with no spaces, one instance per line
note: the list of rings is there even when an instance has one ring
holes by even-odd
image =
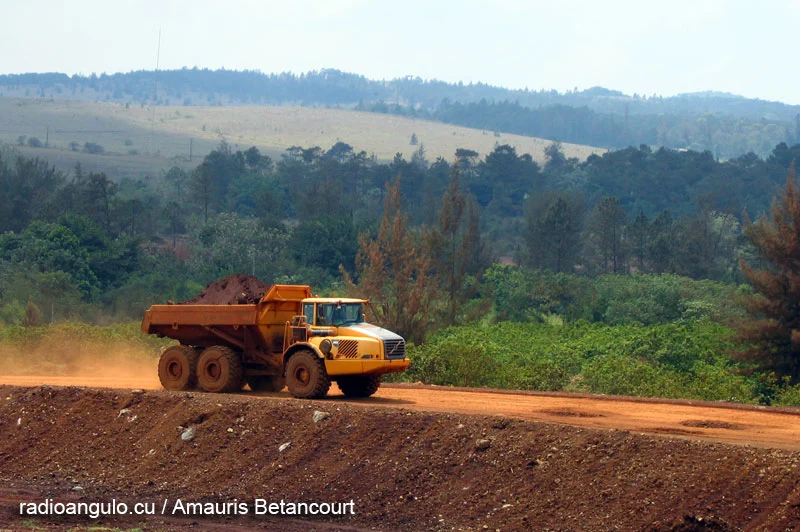
[[[160,388],[155,371],[124,377],[0,375],[0,384]],[[241,395],[253,397],[255,394],[242,392]],[[279,394],[258,396],[266,400],[290,399],[285,390]],[[627,430],[754,447],[800,450],[800,410],[793,409],[391,384],[382,386],[375,397],[359,401],[346,400],[334,386],[331,388],[329,400],[422,412],[499,415],[576,427]]]

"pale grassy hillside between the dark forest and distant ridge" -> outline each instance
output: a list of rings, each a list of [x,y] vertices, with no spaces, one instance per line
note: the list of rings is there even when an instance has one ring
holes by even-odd
[[[439,122],[340,109],[269,106],[140,106],[122,103],[63,99],[0,97],[0,143],[17,145],[20,136],[36,137],[48,148],[23,148],[26,156],[40,156],[56,167],[71,170],[76,162],[85,169],[105,171],[112,177],[142,177],[178,166],[196,166],[221,140],[234,149],[256,146],[273,158],[291,146],[350,144],[379,160],[396,153],[410,159],[424,145],[428,160],[452,160],[457,148],[477,151],[481,157],[496,143],[510,144],[517,153],[529,153],[544,162],[550,141]],[[195,159],[188,161],[190,139]],[[103,155],[74,152],[70,142],[100,144]],[[585,159],[597,148],[562,144],[567,157]],[[135,150],[136,154],[130,154]]]

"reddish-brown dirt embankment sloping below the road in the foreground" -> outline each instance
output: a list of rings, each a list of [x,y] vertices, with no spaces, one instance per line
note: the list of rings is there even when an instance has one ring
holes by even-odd
[[[315,423],[315,410],[331,416]],[[0,386],[0,482],[16,493],[0,519],[10,526],[23,493],[352,499],[355,516],[333,520],[342,528],[783,530],[800,520],[799,462],[791,451],[336,401]],[[163,529],[159,519],[145,528]]]

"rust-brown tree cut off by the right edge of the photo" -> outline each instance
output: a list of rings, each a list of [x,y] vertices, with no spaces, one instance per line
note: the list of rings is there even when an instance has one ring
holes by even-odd
[[[747,298],[750,319],[740,327],[752,347],[738,356],[795,384],[800,382],[800,189],[794,164],[770,214],[745,228],[763,267],[740,261],[756,294]]]

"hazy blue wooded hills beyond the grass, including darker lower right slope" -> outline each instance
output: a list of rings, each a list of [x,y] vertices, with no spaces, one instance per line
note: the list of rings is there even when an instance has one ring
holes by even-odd
[[[508,90],[406,77],[390,81],[322,70],[295,75],[181,69],[97,76],[0,76],[0,94],[165,105],[356,107],[612,149],[646,144],[766,156],[800,142],[800,106],[722,93],[670,98],[585,91]]]

